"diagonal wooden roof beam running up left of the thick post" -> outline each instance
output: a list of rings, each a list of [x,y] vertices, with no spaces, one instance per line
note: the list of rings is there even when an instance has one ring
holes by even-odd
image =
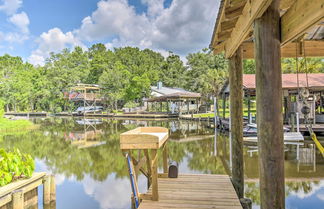
[[[236,22],[231,37],[226,41],[225,56],[231,57],[249,34],[255,18],[260,17],[271,4],[272,0],[247,1],[242,15]]]

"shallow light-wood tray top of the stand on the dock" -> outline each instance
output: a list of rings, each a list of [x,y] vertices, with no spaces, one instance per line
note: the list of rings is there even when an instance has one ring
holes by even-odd
[[[120,149],[159,149],[168,139],[163,127],[138,127],[120,135]]]

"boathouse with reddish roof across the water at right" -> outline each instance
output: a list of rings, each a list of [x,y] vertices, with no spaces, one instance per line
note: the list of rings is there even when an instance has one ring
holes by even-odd
[[[284,105],[284,122],[290,123],[291,114],[299,113],[299,119],[303,122],[301,104],[298,94],[308,93],[308,105],[311,109],[309,119],[313,123],[324,123],[324,73],[290,73],[282,74],[282,93]],[[305,92],[307,88],[308,92]],[[255,101],[256,82],[255,74],[243,75],[243,92],[247,104],[248,118],[251,118],[251,100]],[[226,82],[221,92],[223,99],[229,97],[229,82]],[[225,103],[224,103],[225,104]],[[223,106],[225,109],[225,106]],[[224,111],[223,111],[224,112]]]

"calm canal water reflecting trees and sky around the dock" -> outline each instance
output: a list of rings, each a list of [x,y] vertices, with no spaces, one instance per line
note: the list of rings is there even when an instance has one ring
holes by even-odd
[[[180,173],[229,174],[229,138],[191,121],[129,121],[48,118],[38,130],[5,136],[1,147],[19,148],[36,158],[36,171],[55,174],[58,209],[131,208],[126,161],[119,134],[138,126],[170,129],[170,158]],[[259,208],[258,153],[245,145],[245,190]],[[285,146],[286,208],[324,208],[324,159],[311,143]],[[162,165],[160,164],[161,169]],[[139,177],[140,191],[146,180]]]

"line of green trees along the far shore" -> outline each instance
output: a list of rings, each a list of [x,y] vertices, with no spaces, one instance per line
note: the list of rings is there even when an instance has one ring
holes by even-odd
[[[150,86],[162,81],[164,86],[199,92],[205,101],[217,96],[228,78],[228,63],[223,54],[213,55],[203,49],[186,56],[161,53],[136,47],[107,49],[94,44],[87,50],[75,47],[51,53],[44,66],[33,66],[21,57],[0,56],[0,99],[6,111],[60,112],[75,108],[64,92],[77,83],[99,84],[106,106],[116,109],[140,103],[150,96]],[[304,63],[304,64],[303,64]],[[295,72],[296,60],[283,59],[283,72]],[[322,59],[300,60],[310,72],[324,72]],[[244,60],[244,73],[255,73],[253,60]]]

